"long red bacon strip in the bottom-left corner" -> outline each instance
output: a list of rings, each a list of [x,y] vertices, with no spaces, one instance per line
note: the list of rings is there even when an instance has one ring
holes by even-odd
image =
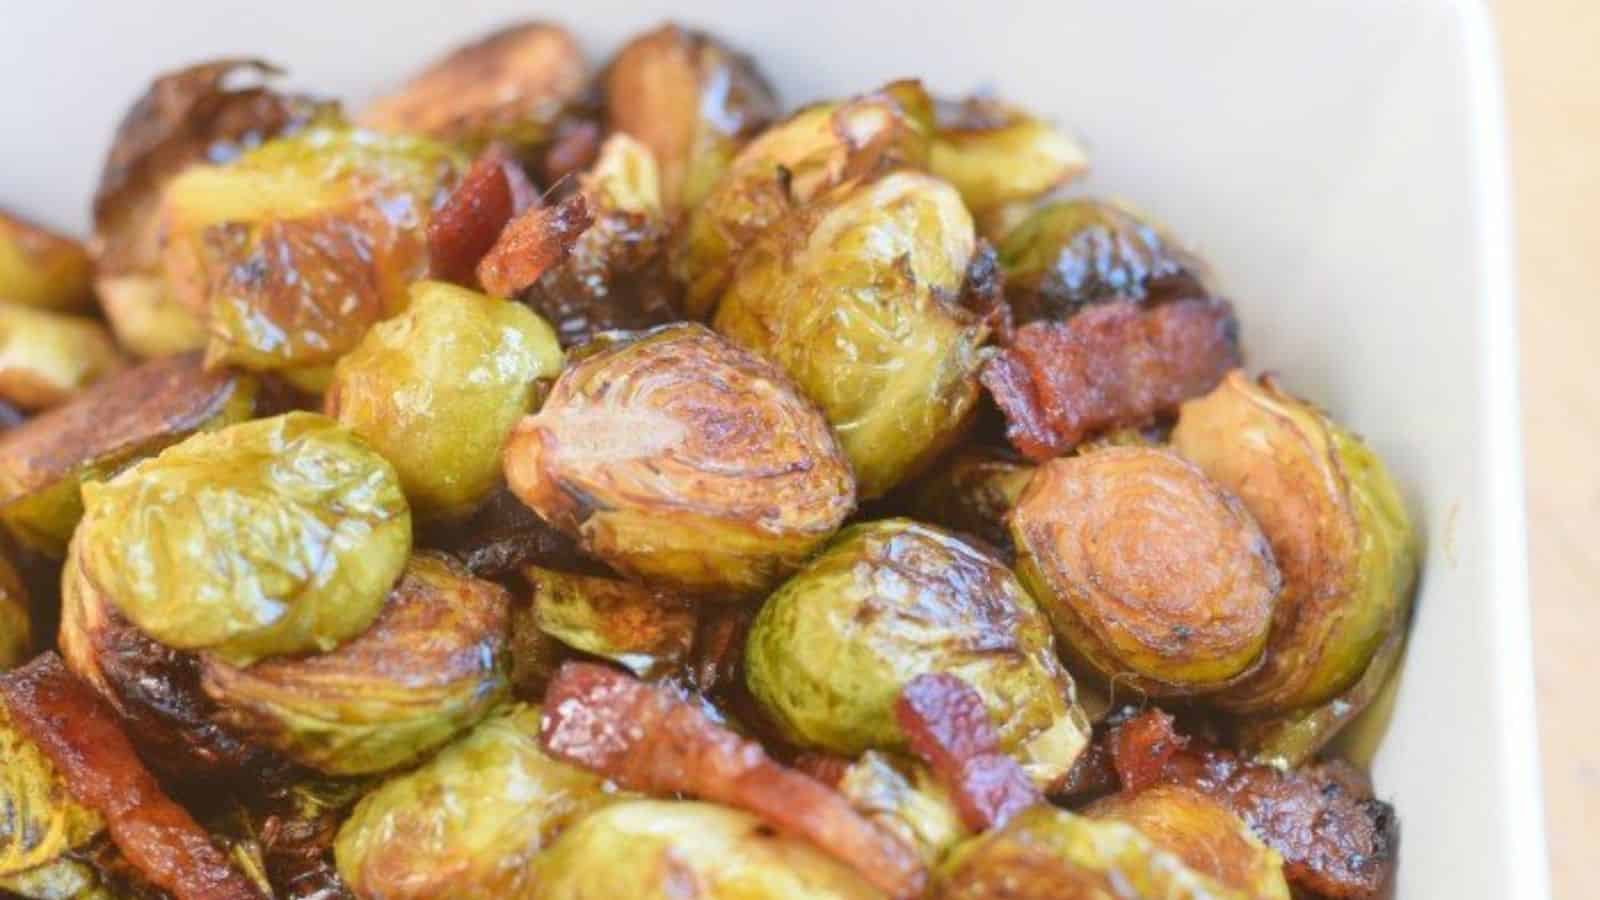
[[[61,772],[83,806],[99,810],[112,841],[152,884],[179,900],[256,900],[256,886],[229,865],[184,807],[133,753],[115,713],[45,653],[0,677],[11,719]]]

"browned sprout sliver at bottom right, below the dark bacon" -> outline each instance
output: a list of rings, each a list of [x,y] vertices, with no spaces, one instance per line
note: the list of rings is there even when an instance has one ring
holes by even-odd
[[[1253,900],[1290,900],[1283,857],[1221,802],[1179,785],[1094,801],[1083,815],[1131,825],[1194,871]]]

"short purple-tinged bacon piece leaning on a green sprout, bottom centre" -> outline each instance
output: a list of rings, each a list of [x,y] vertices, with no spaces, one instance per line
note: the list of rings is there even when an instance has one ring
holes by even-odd
[[[1000,753],[984,698],[960,677],[914,677],[894,700],[894,721],[912,753],[950,788],[955,810],[973,831],[1005,825],[1043,799],[1022,767]]]

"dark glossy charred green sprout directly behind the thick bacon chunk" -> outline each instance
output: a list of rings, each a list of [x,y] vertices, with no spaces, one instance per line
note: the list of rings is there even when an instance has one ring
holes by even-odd
[[[1133,208],[1109,200],[1046,203],[1006,231],[998,250],[1018,323],[1067,319],[1114,298],[1210,293],[1198,259]]]

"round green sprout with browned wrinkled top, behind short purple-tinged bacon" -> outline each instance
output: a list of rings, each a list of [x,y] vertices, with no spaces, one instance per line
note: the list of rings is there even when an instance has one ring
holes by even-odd
[[[1045,613],[1011,570],[907,519],[840,532],[762,605],[746,684],[794,743],[856,756],[904,749],[894,700],[925,673],[960,676],[1042,786],[1088,740]]]

